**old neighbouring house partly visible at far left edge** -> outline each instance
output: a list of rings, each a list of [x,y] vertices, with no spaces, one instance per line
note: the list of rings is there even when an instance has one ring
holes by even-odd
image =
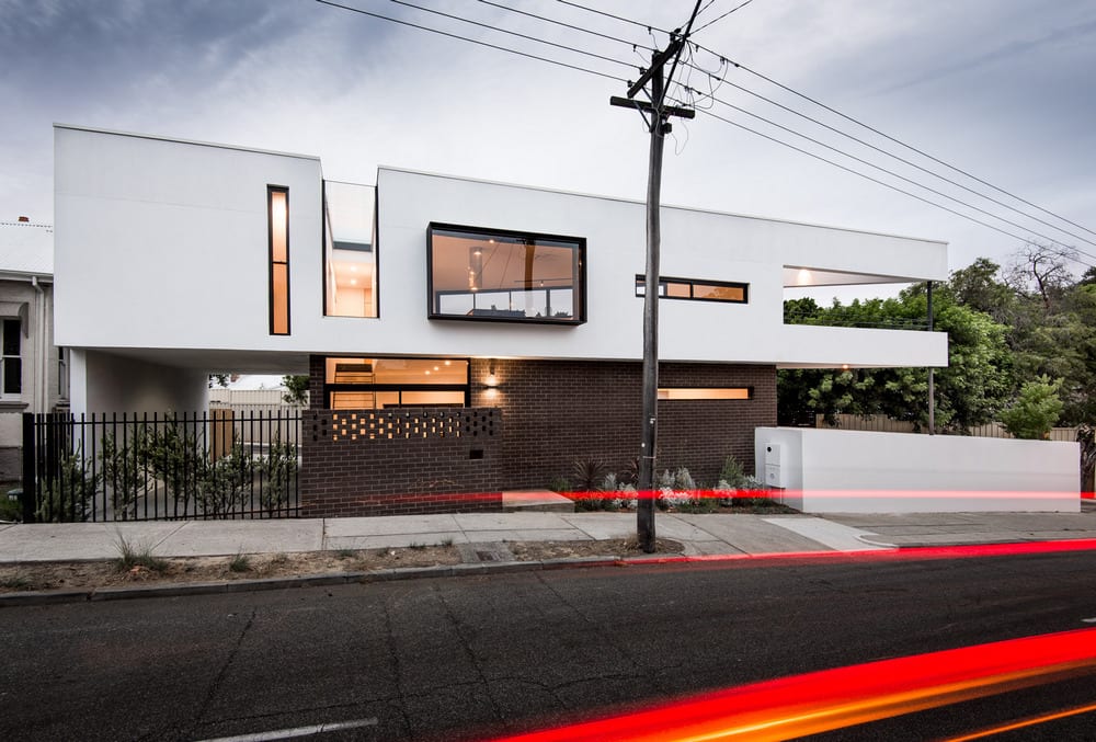
[[[0,481],[21,476],[24,412],[68,400],[64,349],[53,342],[54,229],[0,221]]]

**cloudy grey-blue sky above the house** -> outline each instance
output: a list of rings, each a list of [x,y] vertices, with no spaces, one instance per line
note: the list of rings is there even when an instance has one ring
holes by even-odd
[[[649,31],[559,0],[409,0],[605,57],[597,58],[389,0],[340,1],[621,79],[636,77],[648,54],[642,47],[664,46],[659,30],[682,25],[694,4],[576,0],[650,24]],[[1070,236],[819,128],[746,91],[900,151],[720,60],[1096,229],[1096,2],[753,0],[716,20],[740,2],[713,0],[704,10],[695,27],[715,23],[694,41],[715,54],[697,50],[692,67],[675,75],[696,95],[718,85],[720,102],[699,105],[1020,237],[1042,233],[1096,255],[1096,233],[948,173]],[[642,199],[646,130],[638,113],[608,105],[625,88],[313,0],[0,0],[0,219],[52,221],[54,122],[318,155],[327,178],[351,182],[373,183],[377,165],[390,164]],[[1019,226],[872,171],[728,103]],[[1021,244],[707,114],[675,122],[663,199],[943,239],[951,244],[952,269],[980,255],[1007,262]],[[1081,258],[1096,264],[1096,256]],[[1075,264],[1078,273],[1084,267]]]

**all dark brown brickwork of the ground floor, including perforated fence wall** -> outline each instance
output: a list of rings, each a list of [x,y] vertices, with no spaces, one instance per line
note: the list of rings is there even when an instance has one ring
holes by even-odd
[[[492,368],[496,388],[486,386]],[[322,356],[312,356],[313,409],[305,413],[301,444],[306,516],[498,510],[503,489],[547,487],[570,476],[576,460],[623,471],[639,453],[640,363],[473,358],[472,408],[457,411],[317,409],[324,403],[323,370]],[[776,425],[776,368],[667,363],[659,375],[661,386],[752,387],[753,399],[659,402],[658,470],[685,466],[697,481],[713,484],[733,455],[752,471],[754,429]],[[378,435],[377,415],[413,427],[419,423],[412,418],[465,413],[489,414],[490,434]],[[374,437],[342,436],[335,414],[343,422],[347,414],[374,415]],[[473,449],[482,458],[470,458]],[[443,496],[448,494],[482,496]]]

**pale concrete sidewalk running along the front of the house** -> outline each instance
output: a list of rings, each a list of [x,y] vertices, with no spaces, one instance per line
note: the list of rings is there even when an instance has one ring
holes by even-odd
[[[910,546],[1096,538],[1081,513],[685,515],[659,513],[660,538],[687,555],[858,551]],[[635,513],[475,513],[273,521],[0,524],[0,563],[113,559],[118,543],[160,557],[230,556],[435,544],[631,538]]]

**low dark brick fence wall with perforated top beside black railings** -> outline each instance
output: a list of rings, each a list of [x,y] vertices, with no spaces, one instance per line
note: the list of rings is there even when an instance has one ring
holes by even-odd
[[[490,409],[308,410],[300,514],[501,510],[501,427]]]

